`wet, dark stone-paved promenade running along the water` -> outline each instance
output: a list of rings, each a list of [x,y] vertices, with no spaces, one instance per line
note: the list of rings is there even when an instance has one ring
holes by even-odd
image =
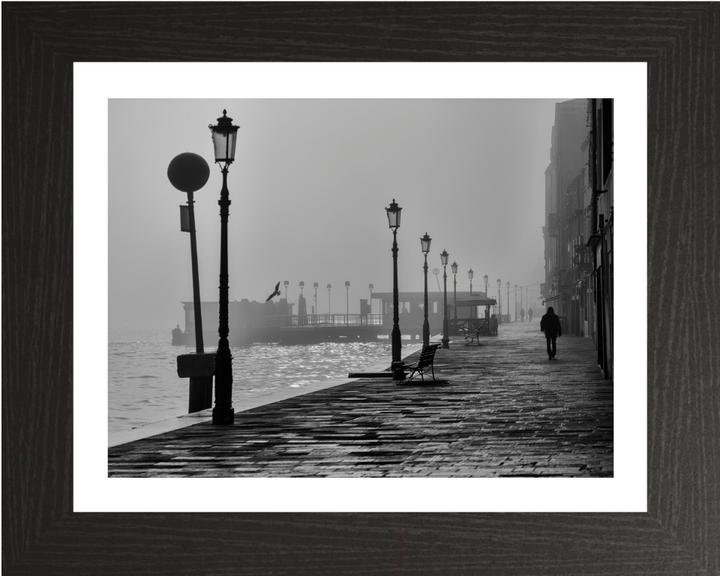
[[[550,361],[539,321],[503,324],[438,349],[443,383],[353,380],[236,412],[110,448],[109,475],[608,477],[613,383],[596,364],[591,339],[559,338]]]

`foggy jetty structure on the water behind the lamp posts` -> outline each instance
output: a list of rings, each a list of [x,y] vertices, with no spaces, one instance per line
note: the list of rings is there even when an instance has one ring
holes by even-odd
[[[281,298],[278,302],[255,302],[248,299],[228,303],[231,346],[249,346],[255,342],[280,344],[312,344],[318,342],[369,342],[387,339],[392,331],[392,292],[373,293],[371,305],[367,299],[360,300],[359,314],[307,313],[303,296],[297,303]],[[423,292],[400,292],[400,328],[404,338],[419,340],[423,329]],[[195,344],[195,314],[193,302],[182,302],[184,328],[180,325],[172,331],[172,343],[176,346]],[[295,309],[297,305],[297,310]],[[484,293],[458,294],[454,303],[448,303],[450,335],[463,335],[480,328],[496,305],[493,298]],[[372,313],[373,308],[379,313]],[[202,302],[205,318],[217,317],[217,302]],[[433,333],[442,331],[443,294],[428,294],[428,321]],[[217,328],[203,327],[206,340],[217,337]]]

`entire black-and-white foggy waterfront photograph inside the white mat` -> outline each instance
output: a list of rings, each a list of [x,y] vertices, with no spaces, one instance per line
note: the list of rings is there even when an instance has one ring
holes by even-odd
[[[108,120],[111,477],[613,476],[612,99]]]

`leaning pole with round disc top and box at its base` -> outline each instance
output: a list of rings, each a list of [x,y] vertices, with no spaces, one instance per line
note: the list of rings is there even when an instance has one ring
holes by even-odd
[[[190,233],[190,260],[192,263],[193,312],[195,315],[196,354],[177,357],[178,375],[190,379],[188,413],[199,412],[212,406],[212,375],[215,354],[205,354],[202,328],[202,300],[195,235],[195,199],[193,193],[200,190],[210,177],[210,167],[202,156],[185,152],[178,154],[168,165],[170,183],[187,193],[187,206],[180,206],[180,229]]]

